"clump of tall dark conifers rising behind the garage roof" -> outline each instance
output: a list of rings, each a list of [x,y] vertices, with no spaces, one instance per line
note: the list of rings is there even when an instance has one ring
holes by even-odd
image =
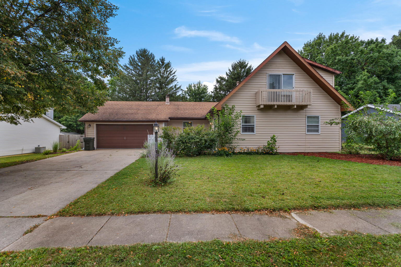
[[[180,94],[176,70],[164,57],[155,56],[146,48],[131,55],[123,73],[109,80],[109,96],[115,101],[164,101],[166,94],[176,100]]]

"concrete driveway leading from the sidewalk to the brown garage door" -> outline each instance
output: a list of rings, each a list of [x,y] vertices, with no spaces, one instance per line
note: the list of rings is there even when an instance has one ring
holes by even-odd
[[[56,213],[136,161],[141,152],[79,151],[0,169],[0,217]]]

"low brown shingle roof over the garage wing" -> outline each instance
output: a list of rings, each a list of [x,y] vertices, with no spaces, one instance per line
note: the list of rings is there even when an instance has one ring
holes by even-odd
[[[79,121],[168,121],[169,118],[205,118],[216,102],[107,101],[97,113],[87,113]]]

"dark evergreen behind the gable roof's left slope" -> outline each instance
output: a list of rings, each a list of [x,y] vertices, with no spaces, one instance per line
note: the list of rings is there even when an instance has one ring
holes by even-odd
[[[212,92],[212,100],[219,102],[236,86],[237,81],[245,79],[253,70],[252,65],[244,59],[233,62],[225,77],[216,78],[216,84]]]

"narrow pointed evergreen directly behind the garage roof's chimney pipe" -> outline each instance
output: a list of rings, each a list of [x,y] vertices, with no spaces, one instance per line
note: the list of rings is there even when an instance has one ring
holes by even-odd
[[[181,86],[178,85],[176,70],[171,66],[171,62],[164,57],[156,62],[156,83],[154,86],[153,101],[164,101],[166,94],[170,94],[172,101],[177,101]]]

